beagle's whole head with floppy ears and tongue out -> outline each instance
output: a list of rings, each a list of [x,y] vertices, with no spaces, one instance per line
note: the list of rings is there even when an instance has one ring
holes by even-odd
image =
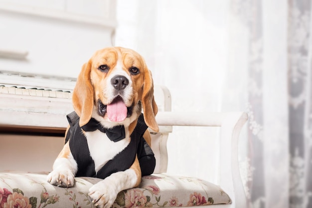
[[[152,74],[134,50],[122,47],[98,50],[82,66],[72,100],[80,126],[91,117],[107,128],[129,126],[143,106],[146,124],[158,131]]]

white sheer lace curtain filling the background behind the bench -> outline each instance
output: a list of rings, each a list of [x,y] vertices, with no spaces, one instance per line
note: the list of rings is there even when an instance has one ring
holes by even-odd
[[[155,83],[171,91],[173,111],[248,112],[240,161],[250,208],[312,208],[311,6],[118,1],[116,45],[146,58]],[[213,179],[204,174],[218,163],[207,134],[214,133],[174,128],[168,171]]]

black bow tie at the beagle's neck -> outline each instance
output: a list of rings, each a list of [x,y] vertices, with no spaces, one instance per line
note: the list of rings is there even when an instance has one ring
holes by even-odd
[[[125,127],[124,126],[115,126],[111,129],[104,128],[100,122],[91,118],[90,121],[81,127],[86,132],[94,132],[95,130],[100,130],[101,132],[105,133],[107,137],[113,141],[118,142],[122,139],[126,138]]]

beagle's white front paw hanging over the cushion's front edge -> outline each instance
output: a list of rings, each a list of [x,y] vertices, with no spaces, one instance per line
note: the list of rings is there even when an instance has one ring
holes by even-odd
[[[89,190],[92,203],[99,208],[111,208],[118,194],[114,187],[108,180],[93,185]]]

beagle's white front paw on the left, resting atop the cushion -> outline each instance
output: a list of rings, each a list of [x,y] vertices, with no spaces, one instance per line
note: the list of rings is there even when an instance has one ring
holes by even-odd
[[[51,173],[49,173],[47,181],[54,185],[54,186],[58,186],[58,187],[72,187],[74,186],[74,180],[75,180],[75,176],[74,174],[69,171],[52,171]]]

